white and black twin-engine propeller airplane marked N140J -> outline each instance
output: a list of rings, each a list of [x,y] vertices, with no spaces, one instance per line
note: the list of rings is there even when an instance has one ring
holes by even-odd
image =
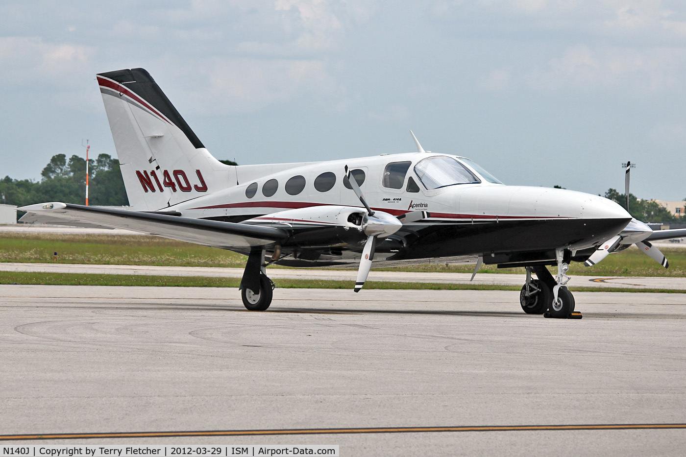
[[[132,211],[49,202],[20,208],[21,221],[128,229],[245,254],[240,289],[251,310],[272,301],[271,263],[359,263],[359,292],[372,261],[440,261],[475,263],[475,273],[482,263],[523,267],[524,312],[567,318],[569,262],[593,265],[637,244],[666,268],[650,241],[686,235],[653,232],[600,196],[504,185],[470,159],[425,151],[414,134],[409,154],[224,165],[144,69],[101,73],[97,82]]]

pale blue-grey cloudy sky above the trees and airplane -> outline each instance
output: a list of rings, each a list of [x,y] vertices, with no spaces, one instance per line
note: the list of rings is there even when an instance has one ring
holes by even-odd
[[[686,197],[686,4],[0,1],[0,178],[115,156],[95,73],[143,67],[217,159],[415,149],[507,184]]]

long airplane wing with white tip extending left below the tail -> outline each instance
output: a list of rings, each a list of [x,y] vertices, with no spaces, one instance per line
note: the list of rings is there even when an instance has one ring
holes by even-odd
[[[171,213],[144,213],[60,202],[32,204],[18,209],[27,212],[20,222],[126,229],[224,249],[267,246],[289,237],[287,231],[276,227],[182,218]]]

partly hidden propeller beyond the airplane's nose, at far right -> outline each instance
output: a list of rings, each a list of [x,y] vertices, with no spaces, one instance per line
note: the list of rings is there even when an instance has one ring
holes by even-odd
[[[626,197],[626,211],[629,211],[629,176],[631,173],[631,162],[626,162],[626,172],[624,173],[624,196]],[[661,266],[670,268],[667,257],[658,248],[650,244],[647,239],[652,235],[652,229],[645,222],[632,218],[631,222],[624,227],[619,235],[608,239],[600,245],[595,253],[584,262],[585,266],[593,266],[613,252],[624,250],[631,244],[635,244],[641,253],[647,255]]]

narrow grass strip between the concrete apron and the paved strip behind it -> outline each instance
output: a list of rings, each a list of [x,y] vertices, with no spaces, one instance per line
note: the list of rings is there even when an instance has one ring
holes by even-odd
[[[238,288],[239,278],[198,276],[148,276],[143,274],[82,274],[0,272],[0,284],[18,285],[123,285],[145,287]],[[277,288],[283,289],[353,289],[353,281],[327,281],[320,279],[276,279]],[[512,290],[521,286],[498,284],[410,283],[367,281],[365,289],[397,290]],[[575,287],[572,292],[658,292],[684,294],[677,289],[593,288]]]

